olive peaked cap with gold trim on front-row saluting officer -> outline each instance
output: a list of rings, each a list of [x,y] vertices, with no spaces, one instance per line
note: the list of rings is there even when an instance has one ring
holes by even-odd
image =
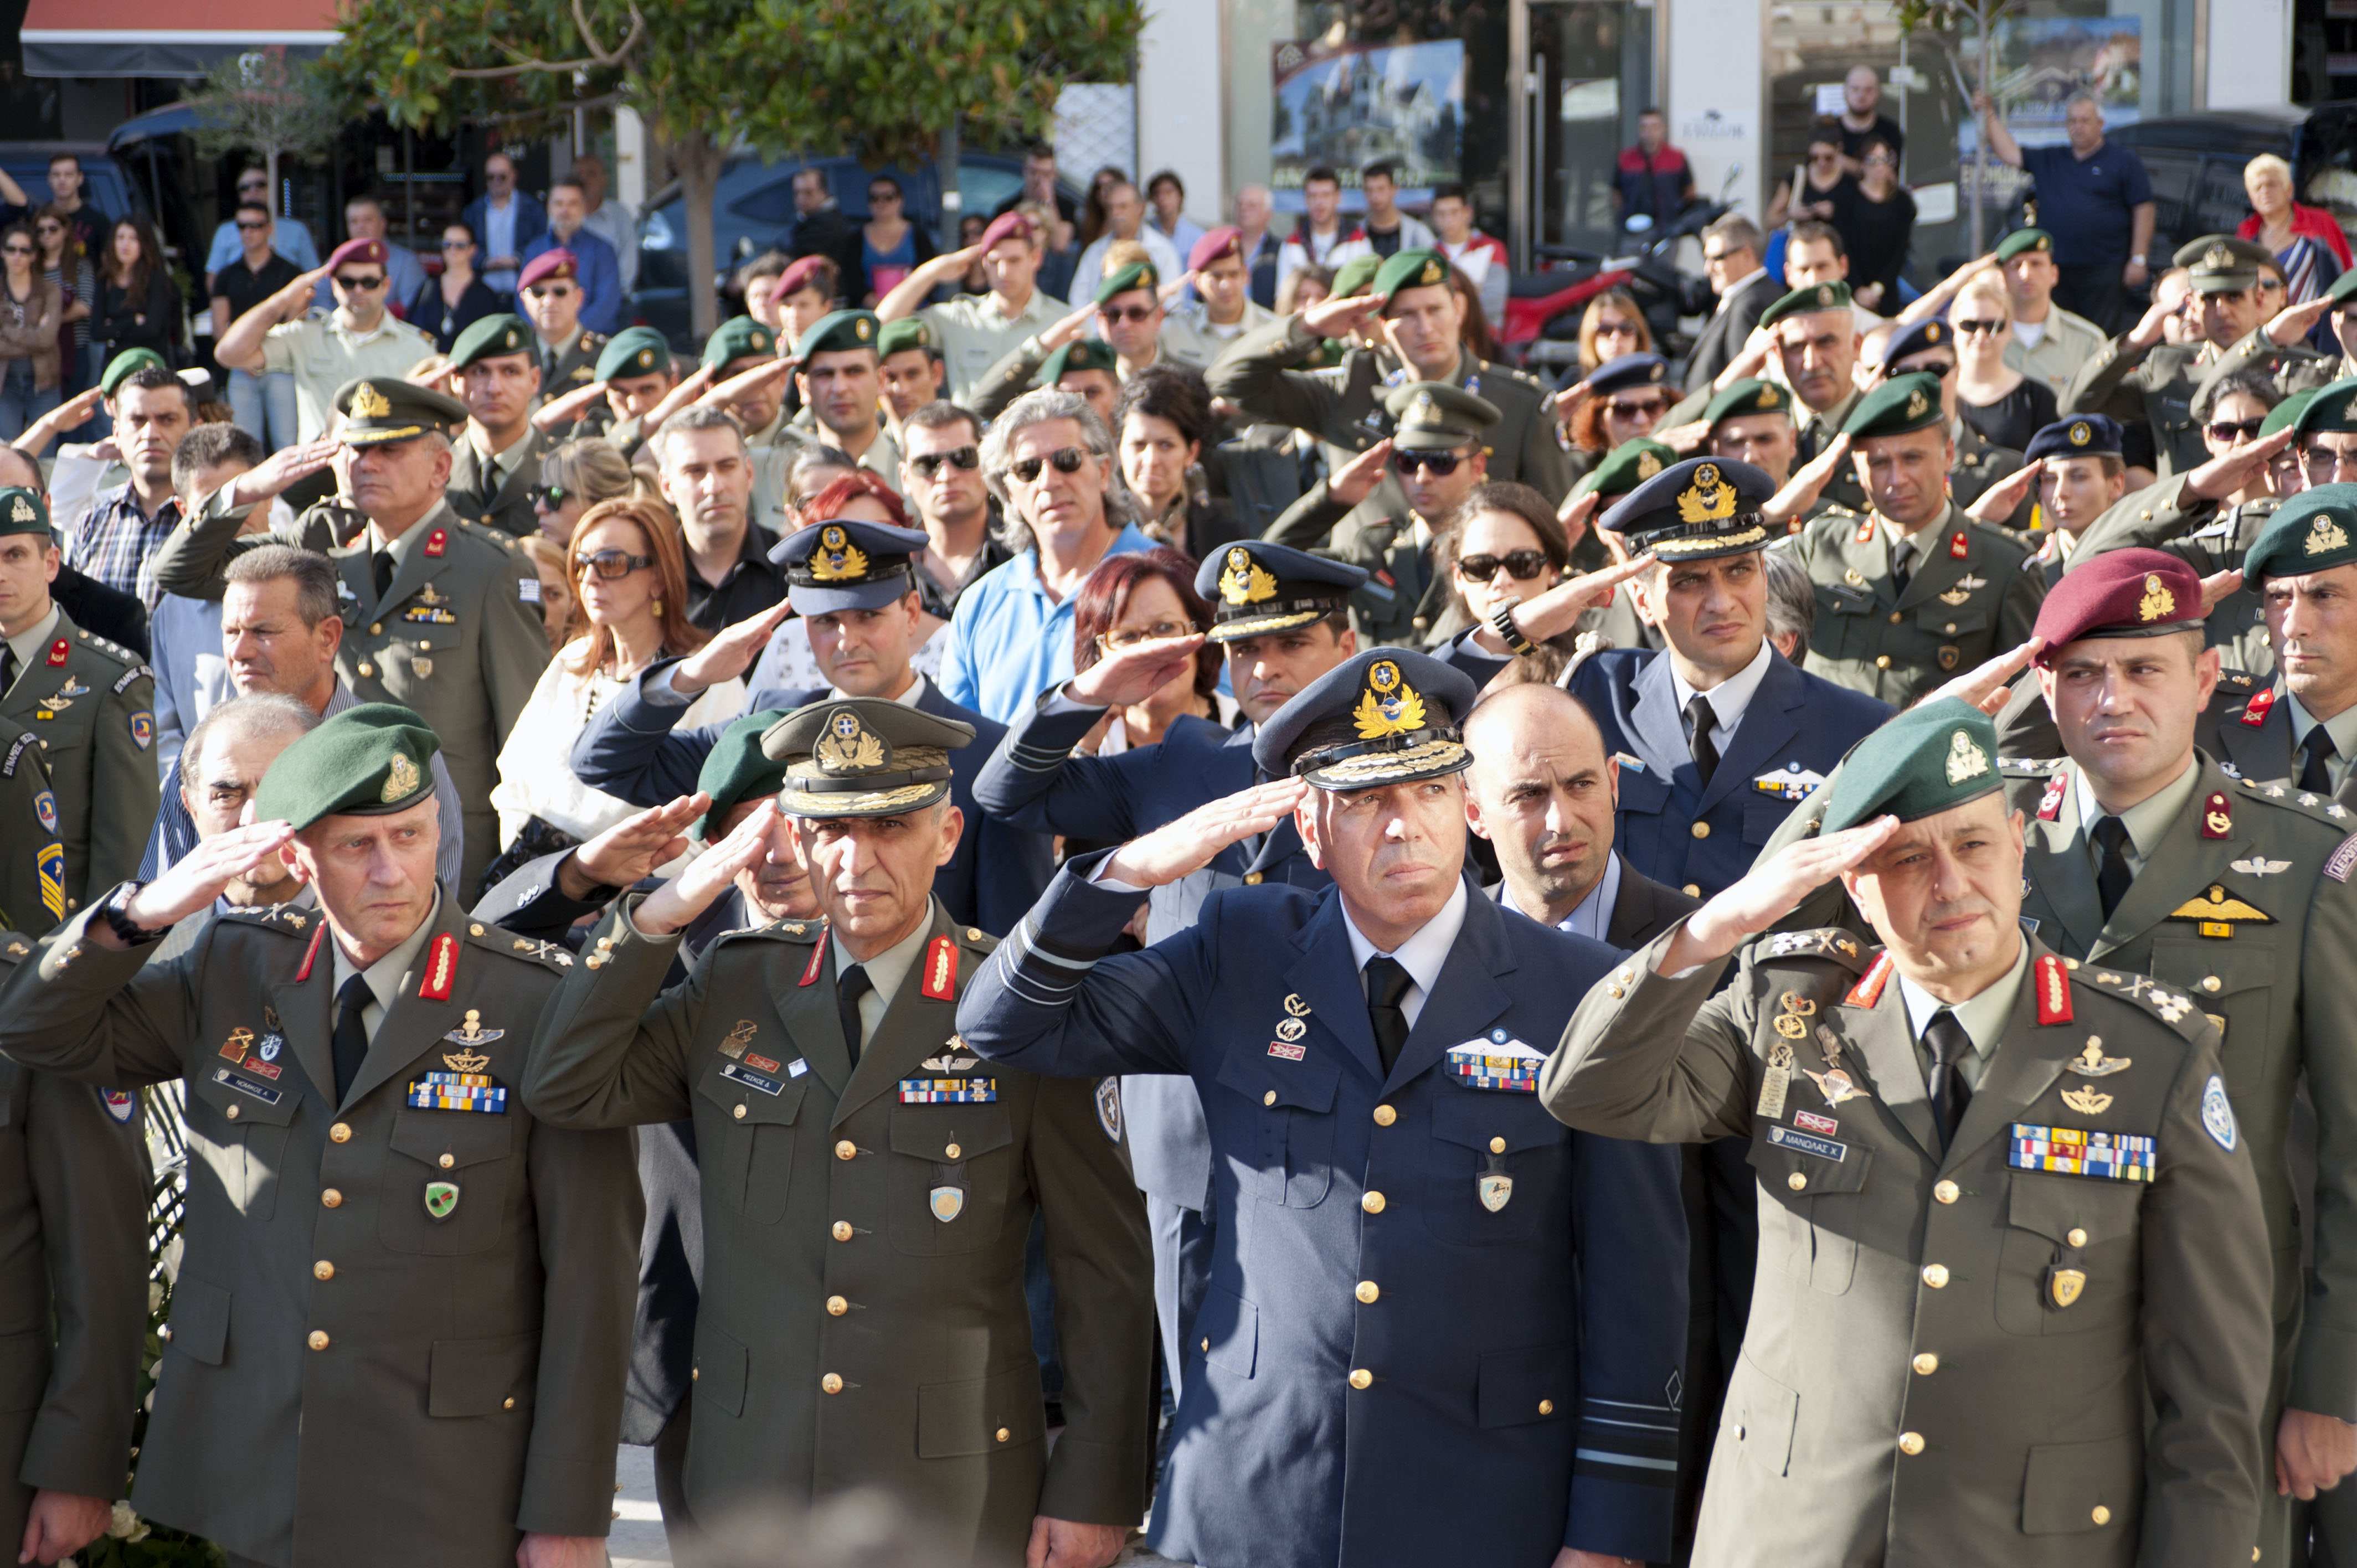
[[[761,736],[761,752],[785,764],[778,806],[787,816],[900,816],[950,792],[950,752],[973,726],[886,698],[811,703]]]

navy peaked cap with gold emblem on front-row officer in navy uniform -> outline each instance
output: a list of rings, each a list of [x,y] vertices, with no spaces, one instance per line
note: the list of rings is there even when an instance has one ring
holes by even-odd
[[[1252,738],[1252,759],[1270,778],[1299,773],[1320,790],[1440,778],[1473,766],[1457,726],[1478,698],[1480,689],[1438,658],[1369,648],[1273,712]]]

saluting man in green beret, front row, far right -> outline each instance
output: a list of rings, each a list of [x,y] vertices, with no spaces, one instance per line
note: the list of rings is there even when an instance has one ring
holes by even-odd
[[[2001,788],[1975,707],[1900,714],[1831,832],[1617,967],[1546,1063],[1586,1132],[1751,1139],[1758,1285],[1695,1561],[2249,1561],[2267,1155],[2199,993],[2022,934]],[[1761,938],[1827,877],[1879,950]]]

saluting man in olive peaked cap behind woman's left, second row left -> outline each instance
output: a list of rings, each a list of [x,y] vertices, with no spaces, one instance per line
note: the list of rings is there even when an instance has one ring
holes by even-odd
[[[238,535],[245,514],[321,457],[266,465],[214,490],[156,554],[156,580],[174,594],[219,599],[231,556],[262,545],[325,552],[337,568],[344,641],[335,674],[363,703],[401,703],[441,740],[450,783],[467,802],[462,884],[500,851],[490,788],[500,745],[549,663],[540,575],[516,540],[450,509],[450,429],[462,403],[394,377],[363,377],[335,394],[342,417],[335,465],[344,507],[316,507],[295,533]],[[318,448],[313,448],[318,450]],[[358,526],[358,533],[344,531]],[[153,773],[153,769],[148,769]]]

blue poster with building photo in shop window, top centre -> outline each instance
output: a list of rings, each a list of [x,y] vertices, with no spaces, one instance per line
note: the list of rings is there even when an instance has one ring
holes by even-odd
[[[1277,205],[1299,212],[1301,177],[1325,163],[1341,174],[1343,205],[1360,207],[1358,170],[1376,158],[1400,165],[1402,200],[1426,200],[1431,186],[1457,179],[1464,97],[1459,38],[1346,47],[1280,42],[1268,127]]]

